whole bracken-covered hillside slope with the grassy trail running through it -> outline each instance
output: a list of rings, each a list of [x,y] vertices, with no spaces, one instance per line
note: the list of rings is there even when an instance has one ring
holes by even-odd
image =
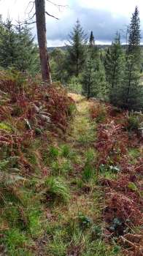
[[[32,100],[24,89],[15,104],[7,83],[0,254],[142,255],[142,138],[127,113],[59,88],[33,87]]]

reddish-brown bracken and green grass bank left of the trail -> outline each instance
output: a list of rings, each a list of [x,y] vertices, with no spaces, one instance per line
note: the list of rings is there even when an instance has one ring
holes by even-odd
[[[74,100],[60,84],[47,87],[38,78],[1,71],[1,252],[35,255],[33,239],[45,231],[46,204],[68,202],[68,185],[52,176],[50,162],[59,152],[53,138],[64,134],[74,111]]]

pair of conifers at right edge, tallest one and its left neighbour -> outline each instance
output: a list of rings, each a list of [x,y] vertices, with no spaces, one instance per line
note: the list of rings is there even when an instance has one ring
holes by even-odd
[[[136,7],[129,26],[128,48],[123,56],[120,36],[117,34],[107,50],[104,65],[112,104],[127,110],[142,110],[143,87],[140,83],[140,25]]]

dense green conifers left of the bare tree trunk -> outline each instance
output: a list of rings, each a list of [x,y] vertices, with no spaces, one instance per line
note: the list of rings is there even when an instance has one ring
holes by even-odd
[[[0,30],[0,66],[15,67],[31,75],[38,72],[39,55],[31,29],[20,23],[14,26],[12,21],[7,19],[5,23],[0,23]]]

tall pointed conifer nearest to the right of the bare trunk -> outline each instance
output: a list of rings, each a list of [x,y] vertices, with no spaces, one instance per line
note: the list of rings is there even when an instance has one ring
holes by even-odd
[[[82,71],[85,64],[85,44],[87,42],[86,35],[80,21],[77,20],[73,31],[69,34],[69,46],[67,47],[67,69],[69,75],[78,75]]]

